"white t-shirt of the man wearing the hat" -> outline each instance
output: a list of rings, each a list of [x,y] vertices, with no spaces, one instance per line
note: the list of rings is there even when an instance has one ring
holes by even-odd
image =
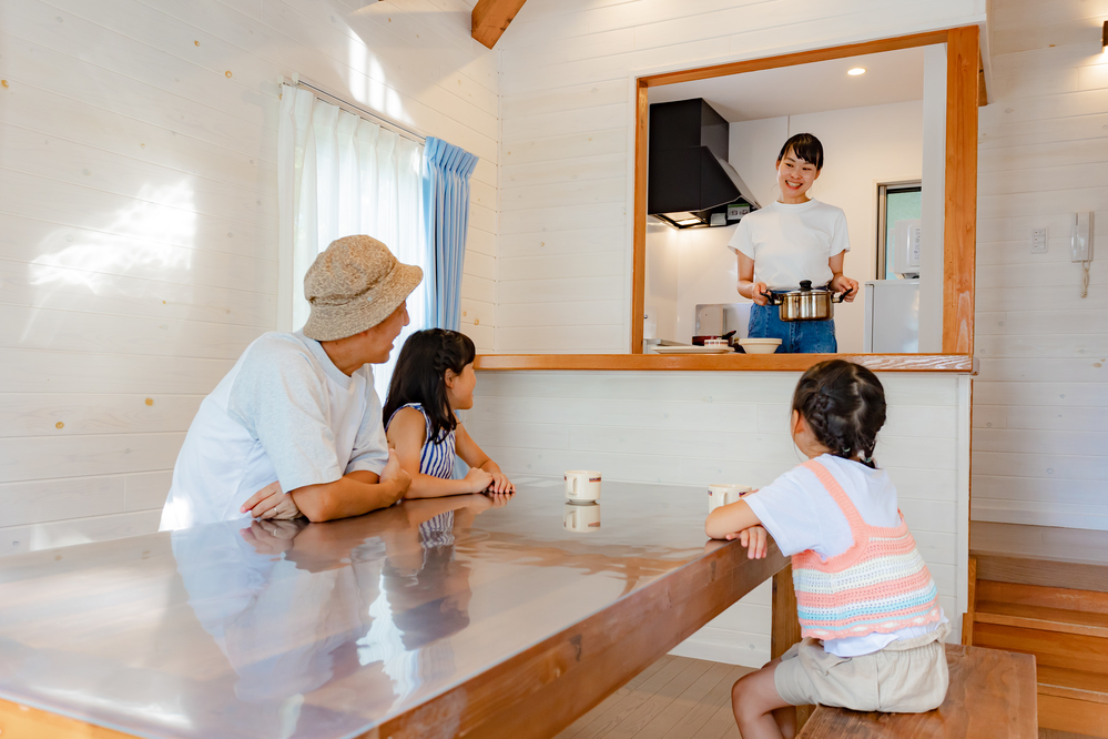
[[[270,483],[289,492],[387,462],[372,367],[347,376],[303,333],[264,334],[201,403],[159,528],[246,518],[238,508]]]

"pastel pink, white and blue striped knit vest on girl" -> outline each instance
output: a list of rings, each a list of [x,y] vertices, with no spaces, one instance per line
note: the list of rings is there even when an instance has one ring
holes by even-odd
[[[804,466],[846,516],[854,544],[826,561],[811,549],[793,555],[801,634],[842,639],[937,622],[938,589],[904,516],[897,512],[893,528],[870,526],[826,467],[815,459]]]

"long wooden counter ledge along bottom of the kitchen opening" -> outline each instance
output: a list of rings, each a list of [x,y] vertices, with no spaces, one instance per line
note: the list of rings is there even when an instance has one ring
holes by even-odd
[[[874,372],[974,374],[968,354],[479,354],[475,370],[571,370],[602,372],[804,372],[824,360],[855,362]]]

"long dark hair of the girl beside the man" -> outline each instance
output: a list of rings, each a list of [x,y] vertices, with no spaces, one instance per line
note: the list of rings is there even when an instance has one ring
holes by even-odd
[[[438,444],[444,432],[458,427],[446,396],[446,371],[460,375],[477,357],[474,341],[457,331],[427,328],[408,336],[400,350],[382,409],[385,424],[408,403],[418,403],[430,418],[428,442]]]

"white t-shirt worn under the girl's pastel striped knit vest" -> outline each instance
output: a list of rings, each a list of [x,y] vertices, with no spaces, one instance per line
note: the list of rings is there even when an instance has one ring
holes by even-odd
[[[858,514],[870,526],[899,526],[896,487],[884,469],[871,469],[824,454],[817,462],[827,468]],[[806,467],[794,467],[756,493],[743,497],[785,556],[812,549],[823,559],[838,556],[854,544],[851,525],[823,483]],[[823,648],[838,657],[857,657],[884,649],[897,639],[911,639],[938,628],[912,626],[892,634],[826,639]]]

